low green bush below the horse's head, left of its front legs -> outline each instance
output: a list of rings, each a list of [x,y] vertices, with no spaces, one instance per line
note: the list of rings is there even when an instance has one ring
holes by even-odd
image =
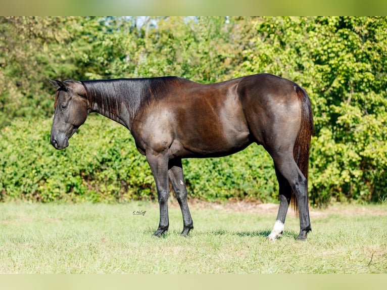
[[[151,199],[153,177],[146,160],[134,152],[130,133],[101,119],[90,120],[93,127],[86,123],[64,151],[50,144],[51,120],[19,121],[3,128],[2,199]]]

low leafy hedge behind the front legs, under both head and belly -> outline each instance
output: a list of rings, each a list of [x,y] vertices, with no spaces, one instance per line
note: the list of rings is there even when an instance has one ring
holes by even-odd
[[[157,199],[146,158],[124,127],[89,116],[62,151],[50,144],[51,120],[18,120],[0,134],[3,201],[113,202]],[[184,160],[190,197],[273,201],[270,156],[258,146],[217,159]]]

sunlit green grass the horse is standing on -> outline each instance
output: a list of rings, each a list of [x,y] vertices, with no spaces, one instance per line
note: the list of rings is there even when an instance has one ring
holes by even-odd
[[[295,240],[299,220],[291,213],[284,235],[266,240],[276,208],[195,203],[191,214],[195,229],[180,236],[173,203],[170,230],[156,238],[153,203],[0,204],[0,273],[387,272],[385,204],[311,211],[306,242]]]

